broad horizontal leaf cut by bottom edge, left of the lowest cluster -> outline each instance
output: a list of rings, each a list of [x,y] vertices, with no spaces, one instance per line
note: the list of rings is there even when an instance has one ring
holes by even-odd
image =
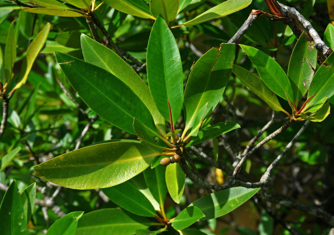
[[[102,209],[84,214],[78,222],[75,235],[122,234],[133,235],[135,229],[155,225],[145,217],[122,209]]]

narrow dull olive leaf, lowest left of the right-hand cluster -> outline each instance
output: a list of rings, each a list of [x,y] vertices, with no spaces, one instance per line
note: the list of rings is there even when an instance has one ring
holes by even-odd
[[[270,108],[275,111],[286,112],[278,101],[277,96],[267,87],[261,78],[238,65],[233,65],[232,72],[241,82],[251,89],[255,95],[266,102]]]

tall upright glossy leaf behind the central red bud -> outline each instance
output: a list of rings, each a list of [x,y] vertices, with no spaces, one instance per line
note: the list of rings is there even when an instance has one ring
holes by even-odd
[[[154,103],[162,116],[169,121],[168,100],[175,123],[182,109],[182,64],[175,38],[161,16],[154,22],[151,31],[146,68]]]

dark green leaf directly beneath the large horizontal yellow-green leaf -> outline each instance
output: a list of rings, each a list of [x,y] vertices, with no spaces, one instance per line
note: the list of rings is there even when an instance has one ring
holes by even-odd
[[[104,188],[102,191],[112,202],[133,214],[145,217],[154,217],[156,214],[151,202],[128,181],[110,188]]]

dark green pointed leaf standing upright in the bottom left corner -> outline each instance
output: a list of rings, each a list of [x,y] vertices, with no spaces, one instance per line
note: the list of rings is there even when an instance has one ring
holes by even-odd
[[[9,185],[0,206],[1,235],[27,234],[27,221],[16,181]]]

